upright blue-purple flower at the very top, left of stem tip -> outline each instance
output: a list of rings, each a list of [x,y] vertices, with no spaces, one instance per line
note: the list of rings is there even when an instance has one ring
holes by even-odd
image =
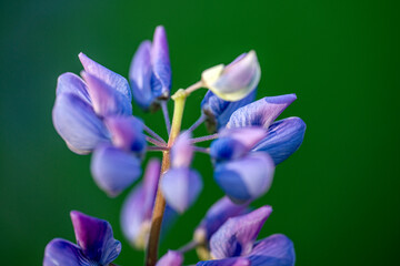
[[[153,42],[143,41],[134,53],[129,79],[133,99],[143,110],[153,110],[169,99],[171,64],[166,30],[156,28]]]

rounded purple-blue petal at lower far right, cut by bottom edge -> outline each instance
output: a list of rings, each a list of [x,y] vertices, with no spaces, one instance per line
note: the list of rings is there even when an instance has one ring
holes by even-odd
[[[249,256],[252,266],[293,266],[293,243],[284,235],[271,235],[256,243]]]

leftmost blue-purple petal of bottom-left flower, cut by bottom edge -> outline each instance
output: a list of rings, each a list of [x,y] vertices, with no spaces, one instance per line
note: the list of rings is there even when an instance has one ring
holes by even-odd
[[[84,266],[87,258],[81,249],[64,239],[52,239],[44,249],[43,266]]]

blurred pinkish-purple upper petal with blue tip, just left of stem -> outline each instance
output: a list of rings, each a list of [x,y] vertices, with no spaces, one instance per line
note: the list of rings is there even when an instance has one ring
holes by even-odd
[[[106,125],[111,132],[112,144],[127,152],[142,155],[146,151],[146,136],[143,122],[132,115],[109,116],[104,119]]]

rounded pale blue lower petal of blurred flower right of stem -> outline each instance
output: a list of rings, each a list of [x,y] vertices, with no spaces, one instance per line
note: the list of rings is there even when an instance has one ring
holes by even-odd
[[[251,153],[243,158],[218,164],[214,180],[233,202],[243,203],[268,192],[273,172],[274,164],[268,154]]]

